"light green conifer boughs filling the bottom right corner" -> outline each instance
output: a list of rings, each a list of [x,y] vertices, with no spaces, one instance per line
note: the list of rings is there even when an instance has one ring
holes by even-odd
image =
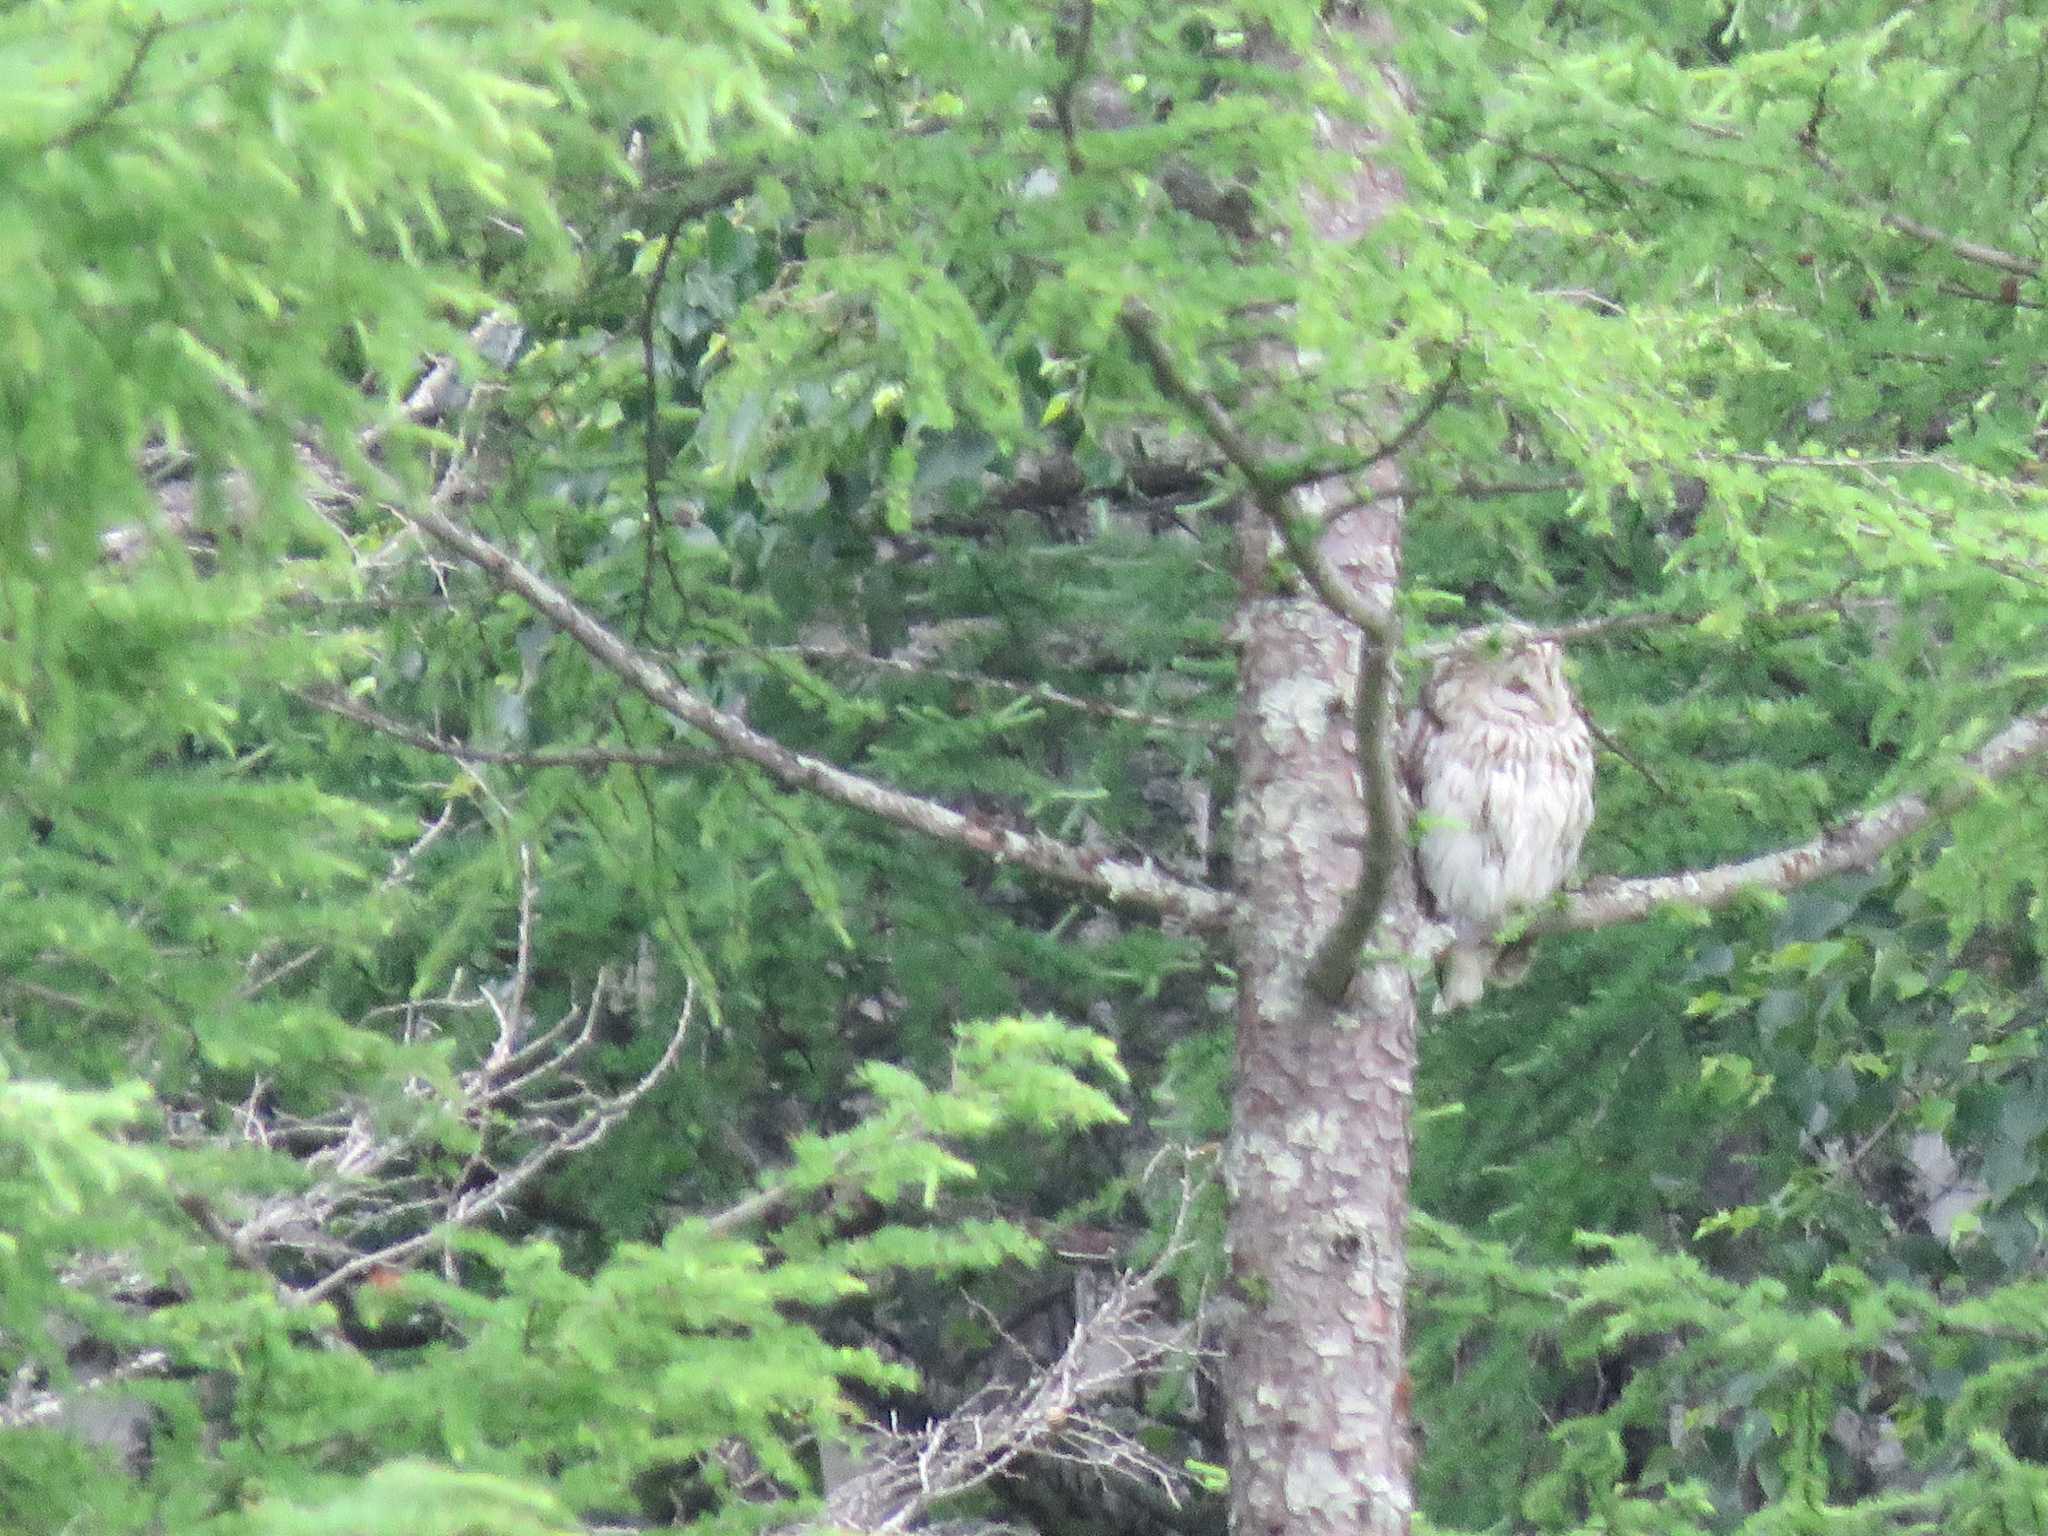
[[[1565,1370],[1630,1362],[1608,1403],[1554,1432],[1554,1462],[1520,1493],[1526,1528],[1999,1532],[2040,1518],[2038,1278],[1939,1300],[1831,1266],[1794,1292],[1645,1239],[1587,1247],[1585,1268],[1538,1268],[1425,1225],[1417,1249],[1425,1284],[1493,1298],[1468,1327]],[[1479,1382],[1470,1403],[1487,1403]],[[1511,1411],[1485,1417],[1497,1434]],[[1870,1460],[1911,1483],[1872,1491]]]

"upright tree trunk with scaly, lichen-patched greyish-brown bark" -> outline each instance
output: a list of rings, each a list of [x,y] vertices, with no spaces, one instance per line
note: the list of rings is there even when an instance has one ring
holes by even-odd
[[[1399,197],[1370,137],[1346,195],[1313,205],[1350,240]],[[1329,481],[1300,498],[1333,516],[1323,553],[1391,608],[1401,549],[1395,481]],[[1360,496],[1376,500],[1360,500]],[[1272,592],[1272,537],[1251,508],[1241,541],[1237,715],[1237,1090],[1227,1178],[1231,1274],[1231,1516],[1239,1536],[1405,1536],[1413,1497],[1401,1354],[1407,1286],[1415,985],[1364,967],[1335,1010],[1305,987],[1311,956],[1358,881],[1366,836],[1352,690],[1358,629],[1309,594]],[[1417,930],[1407,860],[1378,946]]]

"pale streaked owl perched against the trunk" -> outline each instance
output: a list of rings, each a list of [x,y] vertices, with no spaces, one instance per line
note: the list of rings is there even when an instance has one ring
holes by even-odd
[[[1493,936],[1565,883],[1593,823],[1593,735],[1559,647],[1444,659],[1409,715],[1403,774],[1423,897],[1452,928],[1436,999],[1448,1014],[1489,979],[1522,979],[1526,954]]]

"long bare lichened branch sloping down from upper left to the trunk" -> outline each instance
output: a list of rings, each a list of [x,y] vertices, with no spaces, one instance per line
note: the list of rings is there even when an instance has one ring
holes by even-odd
[[[434,543],[473,561],[496,586],[524,598],[555,629],[582,645],[598,666],[651,705],[709,735],[723,754],[752,762],[778,784],[809,791],[836,805],[920,831],[999,864],[1018,864],[1120,905],[1182,918],[1196,928],[1217,930],[1229,918],[1229,901],[1223,893],[1174,879],[1149,862],[1104,858],[1059,838],[997,827],[961,815],[938,801],[848,772],[823,758],[793,752],[676,682],[643,651],[606,629],[567,592],[444,512],[403,506],[395,510]]]

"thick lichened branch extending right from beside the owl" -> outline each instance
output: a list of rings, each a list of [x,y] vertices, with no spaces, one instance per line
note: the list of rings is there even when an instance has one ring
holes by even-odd
[[[1638,881],[1595,881],[1569,897],[1561,909],[1530,918],[1526,932],[1563,934],[1614,928],[1645,918],[1667,903],[1724,907],[1745,891],[1792,891],[1833,874],[1866,868],[1921,827],[1960,811],[1987,786],[2032,766],[2044,752],[2048,752],[2048,711],[2021,715],[1964,758],[1962,782],[1939,793],[1901,795],[1837,821],[1819,838],[1735,864]]]

